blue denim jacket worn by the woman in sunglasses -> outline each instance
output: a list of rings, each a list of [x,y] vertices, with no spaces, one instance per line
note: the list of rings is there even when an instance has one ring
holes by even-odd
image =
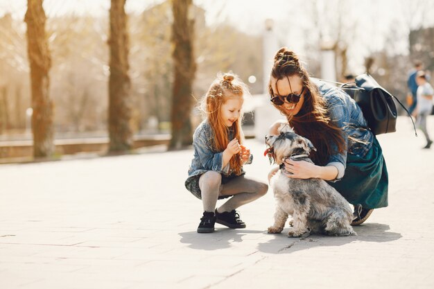
[[[358,107],[345,91],[332,87],[320,80],[313,80],[317,85],[320,95],[324,98],[331,120],[342,128],[344,132],[345,144],[347,151],[331,155],[327,166],[336,166],[338,176],[335,181],[341,179],[345,174],[347,167],[347,154],[356,157],[365,157],[372,147],[374,134],[367,128],[365,116],[361,108]],[[328,141],[327,139],[325,141]],[[336,148],[336,145],[334,146]]]

